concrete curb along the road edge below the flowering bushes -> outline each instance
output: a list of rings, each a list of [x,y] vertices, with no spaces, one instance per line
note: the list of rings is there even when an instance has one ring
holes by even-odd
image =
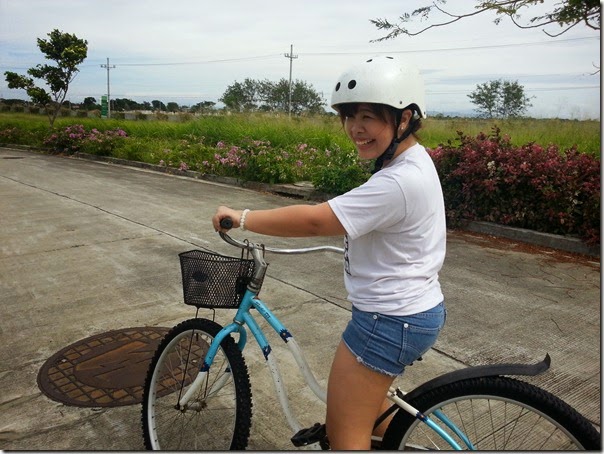
[[[47,150],[40,150],[34,147],[24,145],[5,145],[5,147],[23,149],[28,151],[42,151],[43,153],[52,154]],[[80,152],[74,153],[73,155],[63,156],[75,159],[85,159],[89,161],[106,162],[126,167],[147,169],[152,170],[154,172],[166,173],[169,175],[177,175],[188,178],[195,178],[197,180],[212,181],[215,183],[222,183],[232,186],[239,186],[246,189],[252,189],[254,191],[269,192],[284,197],[294,197],[297,199],[310,200],[315,202],[324,202],[333,197],[333,194],[326,194],[323,192],[316,191],[313,188],[312,184],[309,182],[300,182],[294,184],[258,183],[253,181],[242,181],[233,177],[221,177],[217,175],[204,174],[192,170],[179,170],[173,167],[160,166],[157,164],[128,161],[126,159],[113,158],[110,156],[96,156]],[[589,257],[599,258],[601,255],[600,247],[588,246],[583,243],[579,238],[566,235],[554,235],[551,233],[537,232],[535,230],[509,227],[482,221],[468,221],[461,227],[461,229],[485,235],[507,238],[510,240],[520,241],[536,246],[547,247],[550,249],[566,251],[573,254],[585,255]]]

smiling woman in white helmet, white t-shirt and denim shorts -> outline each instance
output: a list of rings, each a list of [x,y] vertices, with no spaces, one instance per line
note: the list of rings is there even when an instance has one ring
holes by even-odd
[[[369,449],[388,388],[444,324],[445,212],[436,169],[415,136],[425,118],[417,69],[393,57],[365,61],[340,76],[332,107],[359,156],[376,160],[366,183],[319,205],[219,207],[212,221],[216,230],[230,217],[234,228],[265,235],[345,236],[352,319],[329,375],[326,428],[332,449]]]

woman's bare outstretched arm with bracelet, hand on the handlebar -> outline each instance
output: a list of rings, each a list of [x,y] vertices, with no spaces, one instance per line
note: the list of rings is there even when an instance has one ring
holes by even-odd
[[[240,227],[242,210],[221,206],[212,218],[216,231],[220,220],[229,217],[233,228]],[[290,205],[272,210],[251,210],[245,216],[245,229],[271,236],[339,236],[346,231],[327,202],[319,205]]]

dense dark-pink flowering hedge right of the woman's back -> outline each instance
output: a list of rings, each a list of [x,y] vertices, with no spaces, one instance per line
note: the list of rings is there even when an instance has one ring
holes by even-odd
[[[441,178],[449,224],[488,221],[600,242],[600,161],[575,148],[521,147],[491,135],[430,150]]]

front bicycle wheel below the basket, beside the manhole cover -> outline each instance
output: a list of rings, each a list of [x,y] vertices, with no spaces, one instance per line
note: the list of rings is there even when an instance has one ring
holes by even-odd
[[[186,408],[187,391],[221,326],[192,319],[174,327],[151,361],[143,394],[142,424],[147,449],[239,450],[247,446],[252,417],[249,374],[233,338],[222,341],[205,384]]]

